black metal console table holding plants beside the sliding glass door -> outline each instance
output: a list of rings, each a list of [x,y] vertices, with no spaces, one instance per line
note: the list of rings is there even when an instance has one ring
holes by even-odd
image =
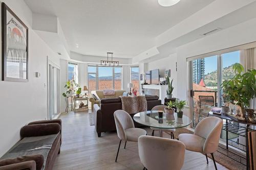
[[[229,158],[231,158],[231,159],[233,159],[233,160],[235,160],[235,161],[245,165],[246,169],[249,170],[249,168],[250,168],[249,152],[250,151],[248,149],[248,132],[249,131],[253,131],[253,129],[250,129],[249,127],[250,126],[256,126],[256,124],[255,123],[246,122],[246,121],[232,119],[232,118],[226,116],[224,113],[218,114],[218,113],[214,113],[214,112],[209,112],[208,116],[216,116],[216,117],[219,117],[219,118],[224,119],[226,121],[226,123],[222,127],[222,130],[226,131],[226,148],[222,148],[222,147],[221,148],[226,150],[227,152],[230,152],[232,154],[235,154],[235,155],[239,156],[240,157],[240,162],[238,160],[235,160],[235,159],[229,157],[228,154],[226,155]],[[236,123],[239,123],[239,124],[244,124],[244,125],[246,125],[246,127],[243,127],[243,126],[240,126],[240,125],[234,125],[234,124],[232,124],[232,122],[236,122]],[[233,152],[228,150],[228,141],[230,141],[230,139],[228,139],[228,132],[245,137],[246,145],[238,143],[238,142],[236,142],[236,143],[246,147],[246,151],[245,151],[246,152],[246,158],[241,157],[240,155],[238,155],[236,153],[233,153]],[[232,142],[235,142],[235,141],[232,141]],[[234,147],[234,146],[232,146],[232,147]],[[238,148],[238,149],[240,149],[240,148]],[[242,151],[244,151],[244,150],[242,150]],[[241,158],[246,159],[246,164],[241,162]]]

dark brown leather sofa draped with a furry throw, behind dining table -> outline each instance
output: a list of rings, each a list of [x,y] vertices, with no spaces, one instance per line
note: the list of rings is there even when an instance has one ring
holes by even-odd
[[[151,110],[154,106],[161,105],[161,100],[158,100],[158,96],[146,96],[147,110]],[[109,132],[116,130],[116,124],[114,120],[114,112],[122,109],[122,103],[120,98],[102,99],[100,100],[100,106],[94,105],[94,126],[98,137],[101,136],[101,132]],[[133,117],[134,114],[131,114]],[[141,127],[140,124],[134,122],[135,127]]]

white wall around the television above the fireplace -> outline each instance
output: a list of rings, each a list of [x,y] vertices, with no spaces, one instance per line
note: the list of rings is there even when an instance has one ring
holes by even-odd
[[[170,69],[170,81],[173,80],[174,97],[177,96],[177,72],[176,72],[176,62],[177,62],[177,55],[172,54],[169,57],[148,62],[147,63],[147,70],[159,69],[160,70],[160,77],[164,77],[164,71]]]

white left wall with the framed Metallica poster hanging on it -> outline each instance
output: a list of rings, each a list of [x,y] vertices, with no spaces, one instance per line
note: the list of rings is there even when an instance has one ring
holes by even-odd
[[[56,53],[31,29],[32,12],[24,1],[5,2],[29,27],[29,82],[0,81],[0,156],[19,139],[19,130],[33,120],[48,118],[47,56],[54,60]],[[58,64],[58,60],[55,60]],[[35,77],[35,72],[41,74]]]

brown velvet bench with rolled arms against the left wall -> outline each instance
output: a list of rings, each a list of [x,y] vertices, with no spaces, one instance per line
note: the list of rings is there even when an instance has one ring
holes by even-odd
[[[20,129],[20,136],[21,139],[0,158],[0,170],[52,169],[60,153],[61,119],[31,122]]]

